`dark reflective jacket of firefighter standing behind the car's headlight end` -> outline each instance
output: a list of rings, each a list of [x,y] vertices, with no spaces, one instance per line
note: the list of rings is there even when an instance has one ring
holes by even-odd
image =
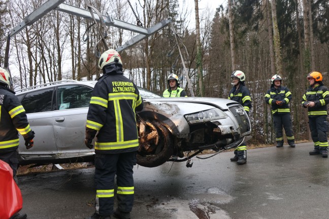
[[[250,92],[244,84],[240,83],[238,90],[236,86],[233,86],[231,91],[229,91],[228,99],[235,100],[240,103],[249,115],[249,111],[251,109],[251,98]]]

